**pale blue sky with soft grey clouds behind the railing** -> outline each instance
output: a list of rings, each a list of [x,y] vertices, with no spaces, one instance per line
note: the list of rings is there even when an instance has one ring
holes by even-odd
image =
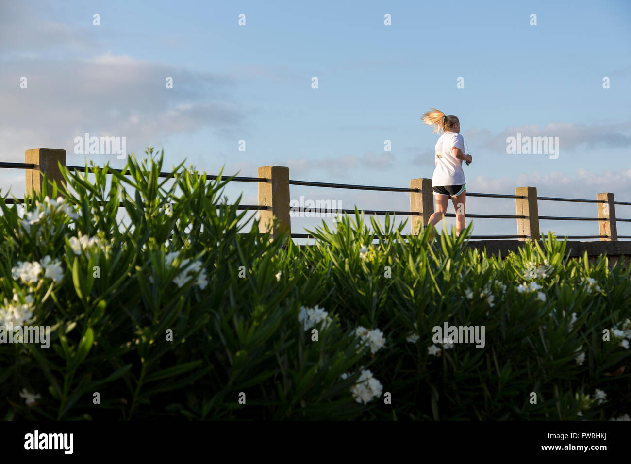
[[[532,186],[631,202],[630,23],[627,0],[1,0],[0,160],[48,147],[69,165],[124,166],[75,154],[89,133],[126,137],[136,155],[163,148],[165,168],[186,160],[256,176],[278,165],[292,180],[408,187],[432,178],[438,135],[420,117],[434,107],[460,119],[469,193]],[[557,155],[507,153],[517,134],[557,140]],[[2,194],[24,190],[23,170],[0,169]],[[257,203],[256,184],[226,193]],[[300,196],[410,209],[407,193],[292,186]],[[514,215],[515,201],[469,196],[466,213]],[[594,203],[540,201],[539,213],[597,217]],[[616,216],[631,218],[631,206]],[[292,232],[321,220],[293,218]],[[471,221],[474,235],[517,233],[514,219]],[[631,235],[631,223],[617,226]],[[598,235],[598,224],[541,220],[540,230]]]

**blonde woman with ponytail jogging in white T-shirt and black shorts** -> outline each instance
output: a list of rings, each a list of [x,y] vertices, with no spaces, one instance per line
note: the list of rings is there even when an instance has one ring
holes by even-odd
[[[460,121],[456,116],[447,116],[442,111],[432,108],[423,114],[422,119],[428,126],[433,126],[432,134],[444,131],[435,146],[436,169],[432,175],[435,212],[430,216],[429,222],[435,226],[444,218],[451,196],[456,208],[456,234],[460,235],[464,229],[466,201],[463,161],[470,163],[473,157],[464,154],[464,138],[460,134]],[[430,232],[430,239],[433,239],[433,230]]]

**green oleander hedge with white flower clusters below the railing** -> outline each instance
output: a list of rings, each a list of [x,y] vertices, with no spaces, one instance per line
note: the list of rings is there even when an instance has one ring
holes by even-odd
[[[0,197],[0,417],[628,419],[631,268],[358,212],[301,248],[229,205],[230,177],[146,154]]]

